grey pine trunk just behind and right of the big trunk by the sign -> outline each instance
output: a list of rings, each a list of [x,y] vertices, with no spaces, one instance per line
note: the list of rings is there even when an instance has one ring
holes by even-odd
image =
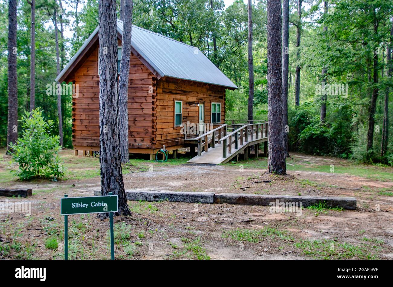
[[[121,163],[129,163],[128,151],[128,79],[130,74],[132,0],[124,0],[123,38],[119,76],[119,127]]]

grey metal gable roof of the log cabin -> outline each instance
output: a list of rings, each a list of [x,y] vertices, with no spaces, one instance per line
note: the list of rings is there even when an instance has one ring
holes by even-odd
[[[123,35],[123,21],[117,20],[118,32]],[[57,76],[58,81],[72,62],[92,40],[98,27],[86,40],[70,63]],[[228,79],[197,47],[132,25],[132,47],[151,65],[160,76],[221,85],[236,89]]]

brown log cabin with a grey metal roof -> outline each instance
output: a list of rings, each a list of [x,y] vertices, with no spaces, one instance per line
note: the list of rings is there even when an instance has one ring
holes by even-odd
[[[120,20],[117,31],[119,71]],[[85,155],[86,151],[99,151],[98,47],[97,27],[56,78],[78,87],[72,99],[76,155],[78,151]],[[151,154],[152,159],[163,145],[167,150],[186,147],[182,127],[224,123],[226,89],[236,88],[197,47],[132,25],[129,152]]]

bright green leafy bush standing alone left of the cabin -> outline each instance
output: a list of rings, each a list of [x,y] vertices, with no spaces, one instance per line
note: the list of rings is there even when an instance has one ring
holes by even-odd
[[[19,169],[13,171],[20,180],[33,178],[57,178],[64,175],[64,167],[59,157],[59,136],[50,134],[53,121],[46,122],[39,108],[25,111],[22,116],[22,137],[11,145],[13,162]]]

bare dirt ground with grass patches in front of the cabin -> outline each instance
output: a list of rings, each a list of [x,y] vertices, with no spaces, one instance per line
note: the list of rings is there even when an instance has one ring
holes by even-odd
[[[62,151],[69,156],[72,151]],[[83,157],[79,156],[83,161]],[[8,173],[0,164],[0,176]],[[9,160],[9,159],[8,159]],[[91,165],[73,167],[99,169]],[[356,210],[303,208],[297,213],[271,213],[268,206],[194,204],[181,202],[129,202],[132,217],[115,218],[117,259],[393,259],[393,169],[383,167],[385,180],[355,172],[321,172],[334,165],[357,167],[342,159],[291,154],[288,174],[266,173],[266,158],[226,165],[191,165],[138,161],[124,174],[129,190],[193,191],[216,193],[354,196]],[[307,168],[305,167],[307,166]],[[298,168],[299,167],[299,168]],[[299,170],[297,170],[299,169]],[[150,171],[149,171],[150,170]],[[388,180],[386,180],[386,178]],[[9,180],[6,188],[32,188],[31,198],[5,198],[0,202],[30,201],[31,216],[0,213],[0,258],[62,259],[64,219],[60,198],[92,196],[100,188],[99,176],[59,182]],[[94,214],[69,216],[69,256],[108,259],[109,222]]]

